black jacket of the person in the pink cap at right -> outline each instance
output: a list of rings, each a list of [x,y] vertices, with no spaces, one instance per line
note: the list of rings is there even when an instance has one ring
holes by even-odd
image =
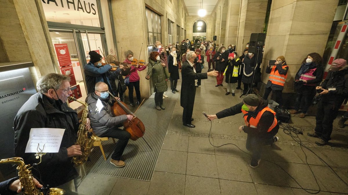
[[[320,86],[329,90],[329,93],[321,96],[323,102],[341,105],[348,97],[348,68],[340,71],[329,71]]]

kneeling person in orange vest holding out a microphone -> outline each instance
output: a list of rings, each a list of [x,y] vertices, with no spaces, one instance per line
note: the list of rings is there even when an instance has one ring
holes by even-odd
[[[208,120],[221,119],[243,113],[245,126],[240,126],[239,131],[247,133],[246,149],[252,152],[250,167],[256,168],[261,160],[263,145],[271,145],[278,141],[275,135],[279,125],[276,113],[267,107],[268,103],[255,94],[244,97],[243,101],[231,108],[222,110],[215,115],[207,115]]]

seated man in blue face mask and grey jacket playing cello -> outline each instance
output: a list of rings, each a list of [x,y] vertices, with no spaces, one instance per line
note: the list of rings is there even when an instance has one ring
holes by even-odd
[[[120,100],[118,97],[116,98]],[[93,128],[93,132],[99,137],[119,139],[111,155],[110,163],[116,167],[124,167],[126,163],[121,160],[121,156],[126,148],[130,134],[118,127],[123,126],[122,123],[124,121],[132,120],[133,116],[121,115],[114,117],[111,112],[111,106],[115,101],[109,97],[109,87],[104,82],[96,83],[94,93],[90,93],[86,97],[90,125]]]

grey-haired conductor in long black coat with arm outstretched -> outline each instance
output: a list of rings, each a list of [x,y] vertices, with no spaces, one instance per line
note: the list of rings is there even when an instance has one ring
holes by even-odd
[[[197,55],[193,51],[189,51],[186,54],[186,61],[181,67],[181,94],[180,94],[180,105],[184,108],[182,112],[182,122],[184,126],[195,127],[191,124],[193,104],[195,103],[196,79],[207,79],[207,76],[217,76],[217,71],[210,71],[209,73],[196,73],[196,69],[193,68],[194,61]]]

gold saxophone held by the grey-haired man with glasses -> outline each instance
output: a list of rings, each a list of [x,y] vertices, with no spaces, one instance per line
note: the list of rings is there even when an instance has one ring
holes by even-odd
[[[86,121],[87,121],[87,114],[88,114],[88,104],[86,102],[82,102],[77,100],[74,97],[68,97],[69,100],[77,101],[85,106],[84,111],[82,112],[81,122],[79,126],[79,130],[77,132],[77,140],[75,142],[75,145],[79,145],[81,147],[81,156],[74,156],[72,158],[72,162],[75,166],[80,166],[81,164],[85,163],[88,159],[88,156],[93,148],[93,142],[97,139],[95,136],[92,135],[88,130],[85,129]]]

